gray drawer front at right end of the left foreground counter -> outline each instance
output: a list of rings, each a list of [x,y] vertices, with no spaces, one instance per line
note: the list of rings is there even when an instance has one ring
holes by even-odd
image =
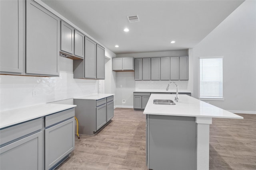
[[[75,109],[64,110],[45,117],[45,127],[49,127],[68,118],[74,117]]]

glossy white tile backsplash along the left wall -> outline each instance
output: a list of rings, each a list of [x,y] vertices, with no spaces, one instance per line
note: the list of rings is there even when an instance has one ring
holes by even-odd
[[[0,111],[98,93],[98,80],[0,75]]]

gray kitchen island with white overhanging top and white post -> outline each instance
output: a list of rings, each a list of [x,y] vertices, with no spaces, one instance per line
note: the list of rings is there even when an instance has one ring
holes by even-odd
[[[146,114],[146,162],[153,170],[208,170],[212,117],[243,119],[188,95],[151,94]],[[175,105],[154,104],[173,100]]]

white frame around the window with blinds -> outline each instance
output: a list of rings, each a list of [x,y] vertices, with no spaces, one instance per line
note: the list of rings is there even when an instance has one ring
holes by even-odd
[[[201,97],[200,96],[200,59],[222,59],[222,97]],[[198,67],[198,96],[199,96],[199,100],[216,100],[216,101],[224,101],[224,83],[223,83],[223,56],[212,56],[212,57],[199,57],[199,67]]]

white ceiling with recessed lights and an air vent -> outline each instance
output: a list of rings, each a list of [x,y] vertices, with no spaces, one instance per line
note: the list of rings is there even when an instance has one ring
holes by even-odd
[[[244,0],[42,0],[116,54],[193,48]],[[138,14],[130,23],[127,16]],[[130,29],[124,32],[123,29]],[[170,44],[170,41],[176,41]],[[115,45],[119,45],[118,48]]]

